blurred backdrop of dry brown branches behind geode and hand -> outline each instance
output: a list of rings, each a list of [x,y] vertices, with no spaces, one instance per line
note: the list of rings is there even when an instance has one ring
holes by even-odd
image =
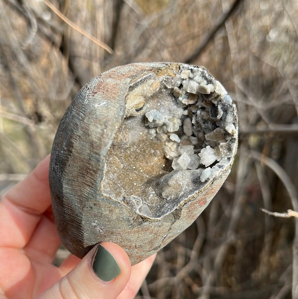
[[[298,211],[296,0],[0,0],[0,195],[50,153],[85,83],[145,61],[205,66],[237,105],[239,147],[137,299],[298,298],[297,220],[260,210]]]

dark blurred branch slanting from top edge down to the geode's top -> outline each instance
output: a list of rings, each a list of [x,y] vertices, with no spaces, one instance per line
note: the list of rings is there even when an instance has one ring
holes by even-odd
[[[236,11],[242,1],[243,0],[235,0],[230,9],[221,15],[214,27],[202,38],[194,53],[185,60],[185,63],[193,63],[199,57],[202,50],[212,40],[216,32],[224,25],[225,21]]]

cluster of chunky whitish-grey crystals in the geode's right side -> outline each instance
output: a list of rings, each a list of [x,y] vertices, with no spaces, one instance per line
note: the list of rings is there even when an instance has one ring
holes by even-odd
[[[203,68],[182,67],[175,80],[164,79],[163,84],[178,108],[147,111],[145,126],[152,137],[158,135],[165,141],[164,154],[172,161],[173,170],[194,170],[201,165],[203,182],[212,172],[218,174],[217,162],[232,155],[230,144],[236,134],[235,116],[228,110],[232,101]]]

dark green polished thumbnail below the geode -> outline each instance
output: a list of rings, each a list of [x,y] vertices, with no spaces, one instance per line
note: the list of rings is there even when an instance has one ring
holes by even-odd
[[[93,270],[104,282],[112,281],[121,272],[113,256],[100,244],[95,254]]]

